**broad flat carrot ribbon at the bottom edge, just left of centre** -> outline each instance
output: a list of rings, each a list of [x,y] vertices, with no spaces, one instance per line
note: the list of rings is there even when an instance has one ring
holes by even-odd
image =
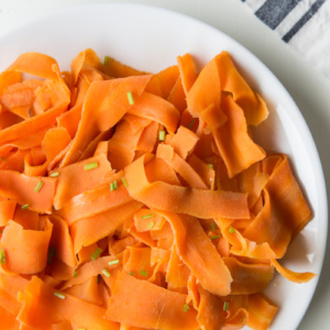
[[[145,297],[141,304],[141,297]],[[121,274],[106,312],[112,321],[152,329],[195,329],[196,311],[186,312],[186,295],[172,293],[146,280]]]

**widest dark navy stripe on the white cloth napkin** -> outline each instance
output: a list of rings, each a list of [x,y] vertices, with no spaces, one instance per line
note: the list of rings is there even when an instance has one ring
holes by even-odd
[[[267,0],[255,12],[255,15],[271,29],[275,30],[299,1],[301,0]]]

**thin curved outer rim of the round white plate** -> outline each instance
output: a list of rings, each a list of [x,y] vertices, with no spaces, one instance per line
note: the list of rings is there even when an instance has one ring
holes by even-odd
[[[152,10],[152,11],[157,11],[157,12],[162,12],[165,13],[166,15],[173,15],[176,16],[177,19],[184,20],[184,21],[189,21],[193,24],[198,24],[200,26],[204,26],[207,30],[212,31],[213,33],[220,34],[221,37],[227,38],[230,43],[234,44],[235,47],[243,50],[246,54],[249,54],[250,58],[253,58],[254,62],[257,62],[257,65],[260,67],[262,67],[262,69],[266,73],[267,76],[271,76],[273,80],[276,81],[277,87],[279,87],[282,89],[282,94],[285,96],[285,101],[288,102],[288,105],[290,106],[290,109],[293,109],[289,112],[290,117],[294,117],[294,119],[299,121],[299,127],[301,127],[304,129],[304,133],[307,134],[308,136],[305,136],[304,142],[307,142],[309,144],[308,150],[312,152],[312,155],[310,156],[310,158],[312,160],[311,164],[312,164],[312,168],[315,168],[318,173],[318,175],[316,175],[316,178],[319,180],[318,182],[318,190],[319,194],[318,196],[322,199],[318,200],[319,207],[320,207],[320,213],[321,215],[326,215],[326,218],[328,217],[328,199],[327,199],[327,187],[326,187],[326,179],[324,179],[324,173],[322,169],[322,164],[320,161],[320,155],[318,153],[318,148],[317,145],[315,143],[314,136],[308,128],[308,124],[300,111],[300,109],[298,108],[297,103],[295,102],[294,98],[292,97],[292,95],[288,92],[288,90],[285,88],[284,84],[277,78],[277,76],[273,73],[273,70],[270,69],[270,67],[267,65],[265,65],[263,63],[263,61],[261,61],[251,50],[249,50],[248,47],[245,47],[243,44],[241,44],[240,42],[238,42],[234,37],[228,35],[226,32],[210,25],[207,22],[200,21],[196,18],[191,18],[188,14],[185,13],[180,13],[177,11],[174,11],[172,9],[167,9],[167,8],[163,8],[163,7],[158,7],[158,6],[153,6],[153,4],[145,4],[145,3],[132,3],[132,2],[89,2],[89,3],[79,3],[79,4],[73,4],[73,6],[67,6],[65,8],[61,8],[61,9],[56,9],[52,12],[47,12],[47,13],[41,13],[37,14],[34,18],[31,18],[29,20],[25,20],[23,22],[21,22],[20,24],[18,24],[14,28],[9,29],[8,31],[1,32],[0,33],[0,45],[2,44],[2,42],[6,42],[6,37],[16,33],[18,31],[30,26],[32,24],[36,24],[37,22],[41,21],[45,21],[47,19],[51,18],[55,18],[58,15],[62,15],[64,13],[68,13],[68,12],[74,12],[77,10],[87,10],[88,8],[138,8],[138,9],[146,9],[146,10]],[[56,59],[56,58],[55,58]],[[248,62],[248,61],[246,61]],[[243,64],[243,66],[245,65],[245,63]],[[2,70],[2,69],[1,69]],[[324,265],[324,256],[326,256],[326,248],[327,248],[327,239],[328,239],[328,219],[324,219],[326,221],[322,221],[322,226],[324,226],[324,230],[322,234],[322,253],[319,256],[319,263],[318,263],[318,268],[319,268],[319,274],[317,276],[317,278],[312,282],[314,288],[312,288],[312,295],[309,297],[308,299],[308,304],[306,305],[306,308],[301,315],[301,317],[299,318],[299,322],[296,324],[298,327],[298,324],[301,322],[310,302],[312,297],[315,296],[315,292],[316,292],[316,287],[319,283],[319,278],[322,272],[322,267]]]

